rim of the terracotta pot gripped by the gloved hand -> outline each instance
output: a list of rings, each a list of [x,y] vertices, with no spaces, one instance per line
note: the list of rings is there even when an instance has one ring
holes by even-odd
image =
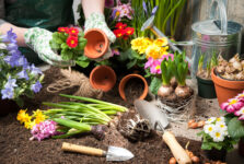
[[[90,58],[90,59],[97,59],[97,58],[101,58],[106,51],[107,51],[107,49],[108,49],[108,38],[107,38],[107,35],[102,31],[102,30],[100,30],[100,28],[91,28],[91,30],[88,30],[85,33],[84,33],[84,38],[85,38],[85,35],[88,35],[89,33],[91,33],[91,32],[94,32],[94,31],[96,31],[96,32],[100,32],[103,36],[104,36],[104,39],[105,39],[105,48],[104,48],[104,50],[101,52],[101,55],[100,56],[96,56],[95,58],[94,58],[94,56],[93,55],[88,55],[86,54],[86,51],[88,51],[88,49],[86,49],[86,46],[84,47],[84,56],[86,56],[88,58]]]

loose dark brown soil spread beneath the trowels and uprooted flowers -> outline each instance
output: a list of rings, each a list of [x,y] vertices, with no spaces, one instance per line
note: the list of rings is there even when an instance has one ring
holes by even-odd
[[[60,102],[67,101],[63,97],[57,96],[57,94],[50,94],[45,89],[55,80],[59,80],[59,70],[51,68],[45,72],[44,89],[34,99],[25,101],[25,108],[33,109],[47,109],[42,105],[42,102]],[[72,94],[75,89],[62,91],[62,93]],[[103,99],[131,106],[121,101],[118,95],[117,86],[106,93]],[[95,147],[106,150],[108,145],[123,147],[130,150],[135,157],[130,161],[124,162],[127,164],[166,164],[172,157],[170,149],[162,141],[162,137],[153,132],[153,134],[146,139],[143,142],[129,142],[125,139],[116,129],[117,118],[109,125],[105,139],[103,141],[96,140],[90,134],[77,136],[70,139],[46,139],[44,141],[30,141],[31,132],[20,125],[16,120],[16,112],[11,113],[8,116],[0,117],[0,163],[1,164],[100,164],[106,163],[105,157],[95,157],[77,153],[68,153],[61,151],[62,142],[70,142],[75,144],[83,144],[89,147]],[[185,147],[189,141],[185,138],[177,138],[178,142]],[[200,161],[206,162],[201,155],[200,142],[191,141],[188,147]],[[108,162],[112,163],[112,162]]]

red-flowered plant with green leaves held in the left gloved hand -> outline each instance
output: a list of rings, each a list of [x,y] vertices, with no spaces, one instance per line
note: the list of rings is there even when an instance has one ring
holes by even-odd
[[[80,67],[86,68],[90,63],[89,58],[83,55],[86,43],[81,28],[58,27],[58,32],[53,34],[49,44],[51,49],[61,56],[62,60],[74,60]],[[91,49],[91,44],[86,49]]]

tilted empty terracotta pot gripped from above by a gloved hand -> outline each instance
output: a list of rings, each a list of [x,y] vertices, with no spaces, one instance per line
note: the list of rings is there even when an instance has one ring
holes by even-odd
[[[84,47],[84,55],[91,59],[97,59],[104,56],[107,51],[109,42],[106,34],[98,28],[91,28],[84,34],[88,39]]]

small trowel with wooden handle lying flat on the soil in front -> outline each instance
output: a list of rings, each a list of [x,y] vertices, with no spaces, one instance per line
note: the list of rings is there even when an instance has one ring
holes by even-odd
[[[102,149],[63,142],[61,150],[94,156],[106,156],[106,161],[127,161],[133,157],[130,151],[119,147],[108,147],[108,150],[104,151]]]

